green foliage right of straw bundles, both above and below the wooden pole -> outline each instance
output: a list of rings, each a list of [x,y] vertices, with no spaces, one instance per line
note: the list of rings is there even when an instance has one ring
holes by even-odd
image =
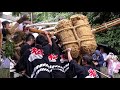
[[[120,12],[93,12],[88,13],[92,26],[99,25],[120,17]],[[97,43],[106,44],[120,52],[120,26],[113,26],[104,32],[96,34]]]

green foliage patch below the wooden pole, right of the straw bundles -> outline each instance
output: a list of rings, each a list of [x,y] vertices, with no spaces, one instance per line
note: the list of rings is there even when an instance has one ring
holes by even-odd
[[[109,45],[112,48],[115,48],[118,52],[120,52],[119,33],[120,33],[120,27],[113,27],[106,32],[103,32],[101,34],[96,34],[96,40],[98,43]]]

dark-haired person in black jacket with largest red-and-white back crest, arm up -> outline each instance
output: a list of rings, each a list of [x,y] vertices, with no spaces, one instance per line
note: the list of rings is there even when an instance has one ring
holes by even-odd
[[[50,64],[47,59],[51,52],[52,41],[45,31],[47,41],[43,35],[36,38],[36,46],[27,50],[16,65],[16,72],[25,71],[30,78],[51,78]],[[44,41],[44,42],[42,42]]]

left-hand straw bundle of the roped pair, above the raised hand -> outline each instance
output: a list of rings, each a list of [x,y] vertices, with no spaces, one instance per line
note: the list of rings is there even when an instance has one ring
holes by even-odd
[[[56,26],[56,32],[61,39],[64,50],[71,48],[71,55],[73,58],[77,58],[79,55],[79,46],[74,37],[72,23],[70,20],[63,19],[58,22]]]

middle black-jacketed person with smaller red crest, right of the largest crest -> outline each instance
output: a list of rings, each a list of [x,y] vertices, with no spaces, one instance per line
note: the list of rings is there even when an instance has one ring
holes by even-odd
[[[50,62],[50,66],[52,69],[52,78],[66,78],[66,74],[64,72],[64,68],[61,65],[61,52],[60,47],[57,44],[57,40],[52,36],[52,53],[48,56],[48,60]]]

